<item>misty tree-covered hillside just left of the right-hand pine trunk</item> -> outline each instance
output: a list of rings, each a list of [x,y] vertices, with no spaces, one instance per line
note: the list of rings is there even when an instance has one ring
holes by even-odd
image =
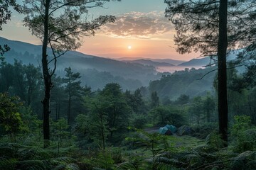
[[[214,69],[216,69],[216,66],[174,72],[174,74],[163,76],[159,80],[151,81],[149,91],[156,91],[160,98],[169,98],[171,100],[176,100],[181,94],[191,97],[203,96],[207,91],[213,90],[213,79],[216,72],[211,71]],[[206,76],[203,77],[204,75]]]

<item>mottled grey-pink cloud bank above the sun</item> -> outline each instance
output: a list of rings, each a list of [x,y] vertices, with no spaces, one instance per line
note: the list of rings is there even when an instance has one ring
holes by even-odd
[[[164,12],[130,12],[117,16],[117,21],[102,28],[102,33],[119,38],[153,39],[155,35],[171,33],[174,30]]]

